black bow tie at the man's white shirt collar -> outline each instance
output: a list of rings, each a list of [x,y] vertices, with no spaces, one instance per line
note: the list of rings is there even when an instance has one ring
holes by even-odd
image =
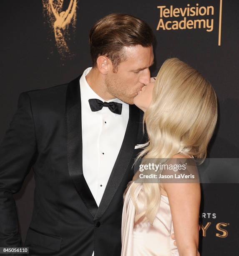
[[[111,112],[118,115],[121,115],[122,112],[122,103],[118,102],[103,102],[98,99],[90,99],[89,104],[93,112],[101,110],[103,107],[108,107]]]

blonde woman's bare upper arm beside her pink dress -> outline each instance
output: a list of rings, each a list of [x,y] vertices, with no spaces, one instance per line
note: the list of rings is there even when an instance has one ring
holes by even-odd
[[[175,155],[174,158],[188,158]],[[169,197],[174,235],[180,256],[197,256],[199,245],[200,183],[162,183]]]

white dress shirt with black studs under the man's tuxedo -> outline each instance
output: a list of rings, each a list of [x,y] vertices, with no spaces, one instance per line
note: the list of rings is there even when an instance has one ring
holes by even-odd
[[[121,115],[112,113],[108,107],[96,112],[91,111],[89,99],[105,102],[86,81],[86,75],[91,68],[87,68],[80,78],[82,164],[86,183],[99,206],[126,132],[129,105],[115,98],[106,102],[122,103]]]

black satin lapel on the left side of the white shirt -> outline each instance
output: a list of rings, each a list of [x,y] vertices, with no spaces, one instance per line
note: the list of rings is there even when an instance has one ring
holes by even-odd
[[[65,127],[67,137],[68,172],[81,200],[94,218],[98,205],[86,183],[82,168],[80,77],[77,77],[68,84],[66,92]]]

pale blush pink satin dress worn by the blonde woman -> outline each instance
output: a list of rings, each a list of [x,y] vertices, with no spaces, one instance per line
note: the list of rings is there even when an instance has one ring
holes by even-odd
[[[126,192],[123,204],[121,256],[179,256],[178,249],[174,246],[174,240],[171,238],[174,226],[168,197],[161,195],[160,206],[153,226],[142,221],[138,221],[134,225],[136,210],[130,196],[131,185]],[[138,184],[136,187],[135,197],[140,212],[143,209],[145,197],[142,184]]]

